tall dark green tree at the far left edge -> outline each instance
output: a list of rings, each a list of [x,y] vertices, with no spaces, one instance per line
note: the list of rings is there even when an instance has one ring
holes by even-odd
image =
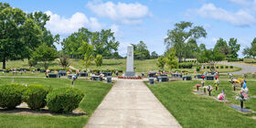
[[[25,24],[25,13],[0,2],[0,59],[5,69],[7,59],[25,58],[26,45],[22,41],[22,27]]]

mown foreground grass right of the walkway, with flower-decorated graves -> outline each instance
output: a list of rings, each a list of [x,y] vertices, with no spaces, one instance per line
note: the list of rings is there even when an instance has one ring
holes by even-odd
[[[255,127],[256,120],[251,116],[252,113],[241,113],[230,108],[227,104],[240,104],[235,100],[237,91],[232,91],[232,87],[227,80],[221,80],[219,91],[213,91],[212,95],[217,95],[225,89],[227,100],[223,103],[215,101],[212,97],[193,94],[196,90],[196,83],[193,81],[172,81],[167,83],[156,83],[147,85],[165,108],[171,112],[178,123],[183,127]],[[147,82],[145,82],[147,84]],[[213,85],[213,81],[207,81],[206,85]],[[250,95],[256,95],[256,81],[248,81]],[[251,98],[245,101],[246,108],[256,112],[256,99]]]

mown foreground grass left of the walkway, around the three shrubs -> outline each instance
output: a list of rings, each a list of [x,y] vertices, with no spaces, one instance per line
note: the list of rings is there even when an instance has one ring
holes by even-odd
[[[0,78],[0,85],[10,83],[12,78]],[[71,85],[71,80],[67,79],[35,79],[35,78],[14,78],[16,83],[24,84],[42,84],[50,85],[53,89],[68,87]],[[86,96],[80,102],[79,109],[86,112],[88,115],[82,116],[65,116],[65,115],[19,115],[15,113],[0,112],[0,127],[20,127],[20,128],[35,128],[35,127],[84,127],[91,117],[92,112],[96,110],[98,105],[103,100],[104,96],[112,88],[112,84],[76,80],[75,88],[84,91]]]

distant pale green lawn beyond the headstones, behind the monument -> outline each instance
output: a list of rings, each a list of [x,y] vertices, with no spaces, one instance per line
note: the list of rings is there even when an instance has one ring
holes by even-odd
[[[147,72],[150,70],[160,70],[156,66],[157,59],[145,59],[145,60],[134,60],[134,68],[135,72]],[[76,68],[76,69],[84,69],[84,66],[82,65],[80,59],[70,59],[70,66]],[[42,63],[38,63],[37,68],[43,68]],[[27,64],[27,59],[24,60],[15,60],[15,61],[7,61],[6,62],[6,69],[20,69],[20,68],[26,68],[28,69],[29,66]],[[55,61],[52,61],[49,64],[50,69],[59,69],[61,66],[59,65],[59,61],[56,59]],[[192,69],[173,69],[175,70],[183,70],[190,73],[193,73],[196,70],[197,67],[193,67]],[[220,65],[219,65],[220,68]],[[2,69],[2,62],[0,62],[0,69]],[[103,63],[101,67],[96,67],[94,61],[91,61],[91,66],[89,66],[88,69],[112,69],[112,70],[125,70],[126,69],[126,59],[103,59]],[[165,70],[170,70],[167,67],[165,67]],[[240,68],[234,67],[233,69],[217,69],[219,72],[233,72],[238,71]],[[209,71],[209,69],[202,69],[201,72]],[[1,75],[1,74],[0,74]]]

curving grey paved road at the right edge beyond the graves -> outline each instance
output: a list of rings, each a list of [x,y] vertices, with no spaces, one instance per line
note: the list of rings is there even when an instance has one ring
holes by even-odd
[[[254,73],[256,72],[256,66],[244,63],[230,63],[230,62],[219,62],[219,64],[229,65],[234,67],[240,67],[240,71],[232,72],[235,75],[242,75],[243,73]]]

